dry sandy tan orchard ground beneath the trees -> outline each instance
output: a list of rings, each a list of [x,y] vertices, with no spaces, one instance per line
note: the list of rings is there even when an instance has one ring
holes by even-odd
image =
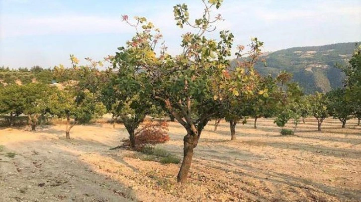
[[[279,135],[271,119],[238,124],[210,122],[195,149],[188,183],[180,164],[112,150],[127,138],[121,124],[0,129],[0,202],[360,202],[361,127],[326,119],[323,131],[307,118],[295,136]],[[291,125],[288,125],[291,127]],[[171,141],[157,147],[182,156],[185,130],[170,123]],[[8,152],[16,155],[8,157]]]

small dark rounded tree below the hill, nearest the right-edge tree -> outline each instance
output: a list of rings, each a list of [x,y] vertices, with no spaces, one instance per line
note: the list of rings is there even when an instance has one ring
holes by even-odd
[[[345,89],[334,89],[326,94],[329,104],[327,106],[329,114],[342,122],[342,128],[345,128],[346,121],[352,118],[355,107],[352,101],[346,99]]]

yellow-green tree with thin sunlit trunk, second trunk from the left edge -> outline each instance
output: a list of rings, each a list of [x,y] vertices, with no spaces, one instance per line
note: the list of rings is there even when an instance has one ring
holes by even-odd
[[[99,118],[106,112],[100,100],[100,90],[105,77],[96,69],[98,65],[102,66],[102,62],[88,58],[90,65],[79,66],[79,59],[72,54],[70,60],[72,64],[71,68],[66,70],[67,74],[62,74],[65,72],[63,65],[54,68],[53,76],[67,82],[66,88],[54,94],[50,103],[53,114],[67,119],[65,130],[67,139],[70,139],[70,130],[75,125],[89,123],[91,119]],[[68,76],[76,76],[79,80],[72,82]]]

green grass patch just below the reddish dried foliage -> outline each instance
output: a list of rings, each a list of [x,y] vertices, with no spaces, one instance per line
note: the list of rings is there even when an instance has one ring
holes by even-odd
[[[154,148],[150,146],[146,146],[141,151],[143,154],[146,154],[144,157],[141,158],[141,160],[147,160],[147,161],[158,161],[164,164],[168,163],[180,163],[181,159],[169,153],[167,150],[161,149],[161,148]]]

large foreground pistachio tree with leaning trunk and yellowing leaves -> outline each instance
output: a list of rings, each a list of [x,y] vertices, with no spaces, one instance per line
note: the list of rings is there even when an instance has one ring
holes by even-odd
[[[255,88],[253,65],[237,66],[234,70],[237,76],[229,76],[227,68],[233,34],[221,31],[218,40],[208,39],[208,33],[215,30],[214,23],[221,20],[220,15],[213,18],[210,10],[219,8],[222,0],[202,2],[204,12],[194,22],[190,21],[186,4],[174,6],[177,25],[195,30],[182,35],[182,51],[178,55],[168,54],[165,46],[161,47],[160,54],[156,54],[155,47],[161,34],[146,18],[140,17],[131,24],[137,30],[136,36],[126,48],[120,49],[120,58],[127,61],[126,65],[136,68],[138,74],[146,72],[142,85],[151,90],[154,101],[161,102],[186,131],[184,157],[178,173],[178,182],[181,183],[186,182],[194,148],[209,119],[224,110],[225,100],[240,96],[241,92],[252,93]],[[129,21],[128,16],[123,16],[123,19]],[[262,43],[254,38],[248,55],[258,55],[261,46]],[[242,51],[239,49],[236,55],[242,55]]]

